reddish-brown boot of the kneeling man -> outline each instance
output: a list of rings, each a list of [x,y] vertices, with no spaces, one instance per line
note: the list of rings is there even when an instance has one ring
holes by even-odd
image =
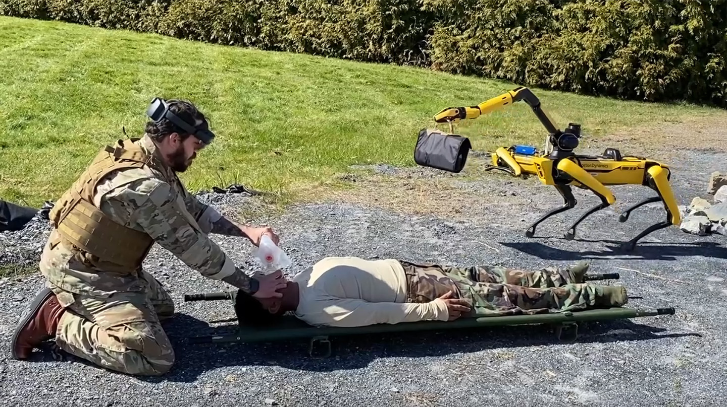
[[[41,342],[54,338],[58,321],[64,312],[55,294],[49,288],[41,289],[12,335],[12,358],[26,359]]]

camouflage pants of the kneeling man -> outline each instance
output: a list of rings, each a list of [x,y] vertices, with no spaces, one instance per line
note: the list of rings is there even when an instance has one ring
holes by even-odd
[[[171,369],[174,350],[160,321],[174,314],[174,303],[145,271],[146,292],[89,297],[50,286],[66,309],[56,343],[65,352],[127,374],[160,375]]]

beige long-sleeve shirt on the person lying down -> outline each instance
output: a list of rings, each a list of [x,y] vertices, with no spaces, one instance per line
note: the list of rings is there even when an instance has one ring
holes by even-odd
[[[328,257],[294,276],[297,318],[316,326],[366,326],[449,318],[443,300],[406,302],[406,275],[397,260]]]

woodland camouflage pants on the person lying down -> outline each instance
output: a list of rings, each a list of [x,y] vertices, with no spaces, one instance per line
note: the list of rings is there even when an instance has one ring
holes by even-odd
[[[500,266],[458,268],[401,261],[409,281],[409,300],[422,303],[453,292],[467,300],[463,317],[577,311],[626,303],[623,287],[582,283],[587,267],[548,267],[525,271]]]

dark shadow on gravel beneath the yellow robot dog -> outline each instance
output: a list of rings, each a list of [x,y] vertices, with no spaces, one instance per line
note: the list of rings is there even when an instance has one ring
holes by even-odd
[[[561,238],[563,239],[563,238]],[[566,239],[563,239],[564,241]],[[550,247],[539,242],[499,242],[503,246],[550,260],[585,260],[611,258],[635,260],[678,260],[681,256],[702,256],[727,259],[727,247],[718,242],[694,242],[678,244],[649,244],[642,242],[632,252],[622,248],[623,242],[613,240],[579,240],[578,242],[601,242],[611,244],[606,250],[565,250]]]

